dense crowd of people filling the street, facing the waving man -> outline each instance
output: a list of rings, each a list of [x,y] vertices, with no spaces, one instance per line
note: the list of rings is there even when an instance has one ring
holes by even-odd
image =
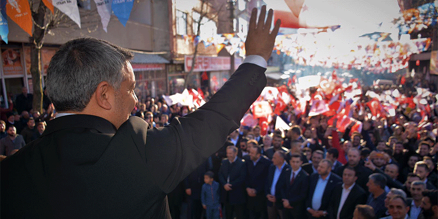
[[[388,87],[366,89],[382,93]],[[2,109],[2,157],[36,139],[56,115],[50,103],[42,115],[14,107],[23,105],[21,96],[10,101],[9,111]],[[428,101],[433,109],[421,122],[421,113],[403,105],[394,116],[352,113],[363,123],[359,132],[351,131],[354,122],[341,132],[337,119],[328,125],[329,116],[308,116],[310,106],[300,115],[291,106],[281,112],[289,130],[261,135],[259,125],[242,125],[168,194],[172,218],[180,218],[187,203],[188,219],[437,219],[436,96]],[[131,116],[159,128],[192,110],[148,97]]]

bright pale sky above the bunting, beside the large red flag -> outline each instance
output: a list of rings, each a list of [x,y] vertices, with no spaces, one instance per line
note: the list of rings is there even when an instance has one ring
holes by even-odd
[[[268,8],[290,11],[285,0],[264,1]],[[374,31],[398,34],[391,23],[400,16],[397,0],[305,0],[304,5],[307,9],[302,9],[299,19],[308,26],[341,25],[336,31],[348,36]]]

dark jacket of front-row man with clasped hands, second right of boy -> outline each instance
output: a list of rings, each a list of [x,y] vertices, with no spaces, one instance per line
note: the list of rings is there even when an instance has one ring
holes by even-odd
[[[265,207],[265,183],[268,177],[269,166],[271,161],[264,155],[260,156],[260,160],[255,164],[252,160],[246,160],[246,180],[245,187],[255,189],[257,191],[255,197],[248,196],[248,209],[260,211],[261,208]]]

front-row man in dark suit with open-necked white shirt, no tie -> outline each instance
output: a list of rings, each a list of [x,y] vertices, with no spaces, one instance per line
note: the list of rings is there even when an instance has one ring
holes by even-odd
[[[329,219],[352,219],[356,205],[366,202],[366,192],[355,182],[354,168],[345,167],[342,183],[336,185],[329,204]]]

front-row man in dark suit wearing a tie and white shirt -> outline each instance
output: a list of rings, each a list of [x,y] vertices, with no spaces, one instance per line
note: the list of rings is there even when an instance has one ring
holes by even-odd
[[[303,219],[305,218],[305,199],[309,188],[309,174],[301,168],[303,156],[299,153],[293,153],[290,156],[289,164],[291,170],[287,172],[290,179],[282,187],[282,201],[284,207],[285,219]]]

